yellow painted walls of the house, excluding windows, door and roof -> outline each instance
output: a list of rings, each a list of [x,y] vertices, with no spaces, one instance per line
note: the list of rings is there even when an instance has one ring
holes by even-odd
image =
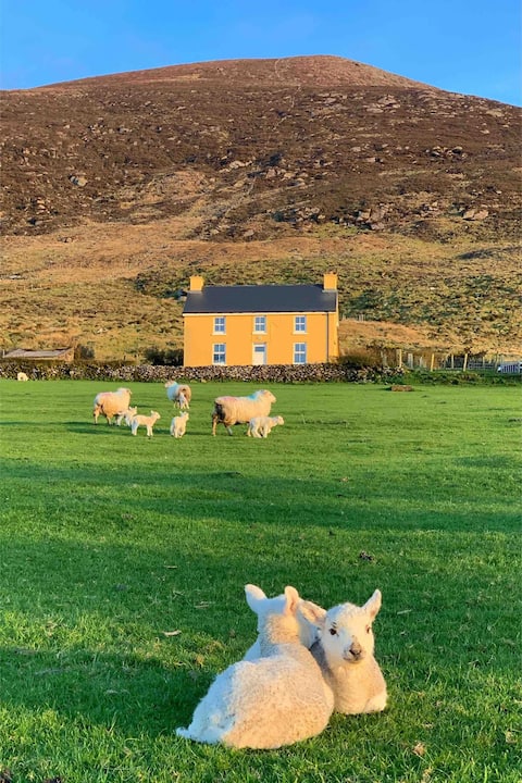
[[[184,364],[212,364],[213,345],[226,345],[226,364],[253,363],[253,345],[266,344],[266,364],[293,364],[294,344],[307,344],[307,363],[337,358],[337,313],[266,313],[266,332],[254,333],[254,313],[221,313],[226,318],[226,333],[214,334],[214,318],[220,313],[184,316]],[[259,313],[264,314],[264,313]],[[294,332],[295,315],[307,315],[307,332]]]

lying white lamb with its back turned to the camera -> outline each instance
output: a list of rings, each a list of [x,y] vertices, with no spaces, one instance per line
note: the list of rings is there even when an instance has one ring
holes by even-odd
[[[298,592],[286,587],[277,610],[249,588],[263,657],[241,660],[219,674],[188,729],[176,730],[178,736],[236,748],[278,748],[315,736],[328,722],[334,697],[300,642]]]

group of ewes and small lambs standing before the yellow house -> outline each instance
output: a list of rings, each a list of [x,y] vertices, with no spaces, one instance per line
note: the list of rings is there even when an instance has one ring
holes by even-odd
[[[171,421],[170,432],[173,437],[181,438],[187,428],[192,391],[188,384],[179,384],[176,381],[169,381],[165,388],[166,396],[179,410],[178,415],[173,417]],[[140,426],[145,426],[147,436],[152,437],[153,426],[161,415],[153,410],[150,411],[150,415],[138,414],[138,409],[130,407],[130,389],[124,387],[116,391],[97,394],[92,409],[95,424],[98,424],[99,417],[103,415],[109,424],[112,424],[113,420],[117,425],[124,421],[130,427],[133,435],[136,435]],[[273,402],[275,397],[268,389],[254,391],[248,397],[216,397],[212,412],[212,435],[215,435],[220,423],[229,435],[233,434],[232,428],[235,424],[247,424],[248,436],[266,438],[275,426],[285,423],[283,417],[270,415]]]

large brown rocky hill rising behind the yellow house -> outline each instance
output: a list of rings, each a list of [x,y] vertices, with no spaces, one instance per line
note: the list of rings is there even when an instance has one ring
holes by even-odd
[[[316,281],[420,341],[515,350],[520,119],[334,57],[2,94],[3,347],[179,344],[173,293]]]

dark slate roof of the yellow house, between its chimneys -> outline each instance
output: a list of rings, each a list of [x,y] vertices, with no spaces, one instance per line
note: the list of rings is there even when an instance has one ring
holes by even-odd
[[[337,291],[322,285],[203,286],[189,291],[183,311],[192,313],[335,312]]]

